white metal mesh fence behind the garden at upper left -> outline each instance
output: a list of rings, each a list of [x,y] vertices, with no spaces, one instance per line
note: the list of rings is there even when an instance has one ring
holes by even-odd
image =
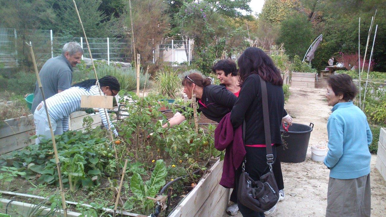
[[[15,29],[0,28],[0,63],[5,67],[17,66],[18,33]],[[52,30],[28,30],[21,41],[31,41],[36,59],[44,63],[47,59],[58,56],[67,42],[78,42],[84,50],[82,59],[90,65],[90,55],[83,37],[53,37]],[[19,42],[20,43],[20,42]],[[131,63],[132,44],[127,38],[88,38],[93,59],[111,62]],[[155,44],[149,40],[147,49],[142,55],[147,55],[147,63],[170,62],[189,64],[193,54],[193,42],[182,40],[161,40]],[[189,60],[189,61],[188,61]]]

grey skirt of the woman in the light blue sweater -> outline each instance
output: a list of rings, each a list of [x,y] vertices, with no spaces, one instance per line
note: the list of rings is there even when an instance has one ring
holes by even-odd
[[[326,217],[370,217],[370,174],[328,180]]]

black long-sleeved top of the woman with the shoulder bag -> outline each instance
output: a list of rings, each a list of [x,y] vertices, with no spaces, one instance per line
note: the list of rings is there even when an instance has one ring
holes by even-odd
[[[282,144],[281,119],[286,115],[283,88],[269,82],[266,84],[271,142],[279,145]],[[234,128],[245,120],[245,145],[265,144],[261,85],[258,75],[252,74],[244,81],[237,102],[232,109],[230,120]]]

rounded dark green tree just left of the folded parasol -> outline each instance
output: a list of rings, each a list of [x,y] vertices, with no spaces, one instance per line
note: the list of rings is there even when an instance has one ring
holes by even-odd
[[[312,24],[302,14],[290,15],[280,24],[278,43],[284,43],[286,53],[290,58],[293,56],[304,56],[307,48],[315,38]]]

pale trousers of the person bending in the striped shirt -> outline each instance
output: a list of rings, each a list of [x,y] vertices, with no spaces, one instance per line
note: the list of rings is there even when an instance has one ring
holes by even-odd
[[[44,106],[40,107],[38,105],[34,112],[34,123],[35,123],[35,132],[36,136],[35,144],[39,144],[40,140],[44,137],[46,139],[51,138],[51,131],[49,129],[49,124],[47,120],[46,109]],[[39,108],[39,110],[38,110]],[[50,117],[52,131],[54,135],[63,134],[62,119],[54,120]]]

